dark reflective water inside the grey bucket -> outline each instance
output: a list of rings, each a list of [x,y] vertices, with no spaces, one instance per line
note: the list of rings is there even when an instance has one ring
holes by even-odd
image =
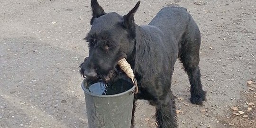
[[[85,89],[96,95],[114,95],[128,91],[132,87],[133,84],[131,84],[131,81],[119,79],[115,82],[111,82],[110,84],[106,84],[101,81],[91,82],[85,87]]]

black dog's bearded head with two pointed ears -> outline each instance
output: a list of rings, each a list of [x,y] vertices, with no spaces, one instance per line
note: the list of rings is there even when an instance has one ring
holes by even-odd
[[[127,15],[105,13],[97,0],[91,0],[91,30],[84,38],[89,44],[89,57],[80,65],[82,75],[109,79],[118,61],[132,54],[135,46],[134,14],[140,1]]]

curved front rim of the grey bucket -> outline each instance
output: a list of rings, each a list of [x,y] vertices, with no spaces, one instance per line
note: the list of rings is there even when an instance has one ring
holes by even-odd
[[[87,91],[87,89],[85,89],[85,87],[84,87],[84,83],[85,83],[85,79],[83,79],[81,86],[82,86],[82,90],[86,94],[89,94],[89,95],[94,96],[94,97],[104,97],[104,98],[121,96],[121,95],[124,95],[124,94],[126,94],[126,93],[128,93],[130,91],[133,91],[136,88],[136,86],[133,85],[128,91],[124,91],[124,92],[121,92],[121,93],[118,93],[118,94],[113,94],[113,95],[96,95],[96,94],[93,94],[93,93]]]

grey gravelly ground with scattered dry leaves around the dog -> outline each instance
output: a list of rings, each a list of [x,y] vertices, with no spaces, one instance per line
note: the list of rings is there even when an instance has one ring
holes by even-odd
[[[137,2],[98,1],[121,15]],[[200,27],[208,91],[203,106],[191,104],[177,61],[179,128],[256,128],[256,0],[141,0],[136,23],[149,23],[171,3],[187,8]],[[0,128],[88,127],[78,66],[88,55],[82,38],[90,19],[89,0],[0,0]],[[155,128],[155,108],[138,104],[136,128]]]

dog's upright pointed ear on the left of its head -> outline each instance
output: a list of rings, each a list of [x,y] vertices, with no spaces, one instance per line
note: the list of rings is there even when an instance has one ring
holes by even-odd
[[[106,14],[104,9],[102,9],[102,7],[99,5],[97,0],[91,0],[91,9],[92,9],[91,24],[94,18],[99,18],[100,16]]]

